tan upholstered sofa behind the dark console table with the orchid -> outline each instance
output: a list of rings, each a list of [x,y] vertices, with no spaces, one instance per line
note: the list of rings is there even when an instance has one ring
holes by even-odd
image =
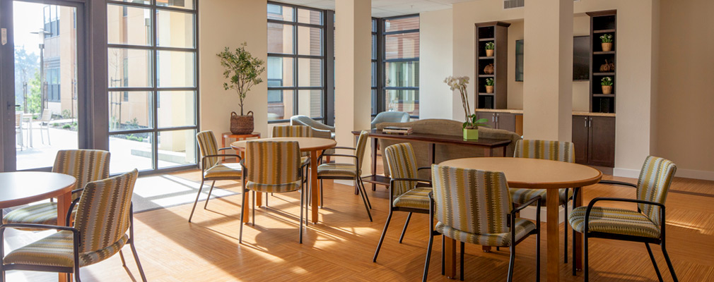
[[[381,122],[377,125],[377,129],[381,130],[387,126],[399,126],[399,127],[411,127],[414,133],[429,133],[429,134],[440,134],[440,135],[456,135],[463,136],[463,129],[461,127],[462,122],[456,120],[441,120],[441,119],[428,119],[428,120],[416,120],[412,122]],[[480,127],[478,129],[478,137],[480,138],[494,138],[494,139],[508,139],[511,140],[511,144],[506,147],[506,156],[513,157],[513,151],[516,148],[516,140],[521,140],[521,136],[516,134],[516,132],[511,132],[508,130],[496,130],[488,127]],[[396,143],[401,143],[399,140],[379,140],[379,147],[381,149],[393,145]],[[431,160],[428,156],[428,143],[426,142],[410,142],[414,147],[416,152],[416,162],[418,167],[428,167],[431,166]],[[436,155],[436,163],[443,162],[445,160],[453,160],[462,157],[483,157],[485,150],[473,147],[469,145],[441,145],[437,144],[435,148],[434,155]],[[493,157],[501,157],[503,150],[495,150]],[[386,157],[382,156],[382,163],[384,164],[385,174],[388,176],[389,172],[387,168]],[[431,178],[428,170],[423,169],[419,172],[420,178]],[[427,179],[428,179],[427,178]]]

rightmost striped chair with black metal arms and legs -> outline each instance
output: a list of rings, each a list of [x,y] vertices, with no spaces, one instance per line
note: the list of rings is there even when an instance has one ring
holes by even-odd
[[[636,199],[595,198],[588,207],[573,209],[568,221],[573,226],[573,244],[575,232],[585,237],[585,281],[588,281],[588,238],[605,238],[623,241],[643,242],[647,247],[657,278],[662,274],[650,249],[651,244],[659,244],[665,257],[670,274],[678,281],[672,261],[665,248],[665,199],[677,166],[670,160],[648,156],[640,170],[637,185],[627,182],[600,181],[600,184],[618,184],[637,189]],[[595,207],[597,202],[630,202],[637,204],[637,211],[609,207]],[[575,263],[573,263],[575,276]]]

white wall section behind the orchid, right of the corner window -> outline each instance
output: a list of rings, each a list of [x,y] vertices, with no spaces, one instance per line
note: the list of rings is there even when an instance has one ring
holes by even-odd
[[[419,118],[451,119],[452,93],[443,79],[453,73],[453,16],[452,9],[428,11],[419,14]],[[461,112],[459,112],[460,115]]]

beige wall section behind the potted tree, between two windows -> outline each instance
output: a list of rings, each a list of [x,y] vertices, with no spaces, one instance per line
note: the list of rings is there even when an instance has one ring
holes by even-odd
[[[201,130],[213,130],[216,138],[230,129],[232,111],[240,113],[238,94],[223,90],[223,68],[216,56],[224,47],[246,49],[263,61],[267,59],[267,18],[265,0],[211,0],[198,9],[198,72],[201,88]],[[245,100],[244,111],[253,111],[255,131],[268,136],[268,88],[266,73],[263,83],[253,86]]]

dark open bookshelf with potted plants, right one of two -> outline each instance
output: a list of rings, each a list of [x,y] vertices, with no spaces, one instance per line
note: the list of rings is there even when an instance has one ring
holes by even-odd
[[[590,16],[590,112],[593,113],[615,113],[615,101],[618,94],[617,89],[617,11],[595,11],[588,12]],[[603,51],[600,36],[612,35],[612,48]],[[601,71],[600,66],[605,63],[613,63],[614,69]],[[603,78],[612,78],[613,89],[610,94],[604,94],[600,82]]]

